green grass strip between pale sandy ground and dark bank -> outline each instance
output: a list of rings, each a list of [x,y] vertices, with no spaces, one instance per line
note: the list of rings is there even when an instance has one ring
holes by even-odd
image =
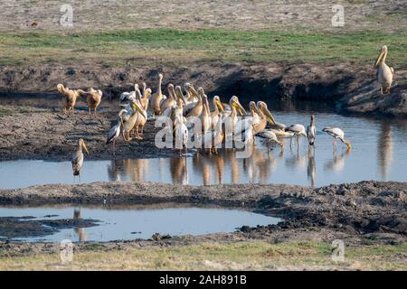
[[[407,33],[279,33],[225,30],[120,30],[99,33],[3,33],[0,64],[97,62],[179,65],[196,61],[355,62],[371,64],[389,46],[388,61],[407,64]]]

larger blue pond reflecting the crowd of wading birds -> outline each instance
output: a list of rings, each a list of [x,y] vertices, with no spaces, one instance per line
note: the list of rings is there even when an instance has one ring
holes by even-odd
[[[256,142],[251,157],[235,158],[234,153],[184,156],[180,158],[85,160],[80,182],[134,181],[183,184],[216,183],[289,183],[322,186],[330,183],[407,181],[407,121],[388,118],[344,117],[325,109],[278,107],[274,116],[285,124],[308,125],[312,111],[317,117],[317,141],[308,149],[301,139],[297,149],[285,140],[285,152],[279,148],[270,155]],[[339,126],[352,141],[351,152],[338,142],[333,150],[331,136],[324,126]],[[67,156],[69,160],[70,156]],[[86,158],[86,156],[85,156]],[[0,162],[0,188],[23,188],[34,184],[73,183],[71,163],[17,160]],[[79,182],[79,180],[76,180]]]

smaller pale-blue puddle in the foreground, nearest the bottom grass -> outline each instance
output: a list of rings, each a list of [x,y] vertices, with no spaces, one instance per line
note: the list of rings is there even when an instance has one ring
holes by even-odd
[[[279,219],[246,210],[204,207],[128,206],[109,207],[0,207],[2,217],[31,216],[34,219],[98,219],[99,226],[63,228],[49,236],[14,238],[20,241],[60,242],[111,241],[118,239],[151,238],[155,233],[171,236],[202,235],[232,232],[241,226],[277,224]],[[0,236],[1,239],[1,236]]]

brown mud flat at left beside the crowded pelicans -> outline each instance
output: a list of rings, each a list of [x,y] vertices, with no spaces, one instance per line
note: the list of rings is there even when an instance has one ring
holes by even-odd
[[[60,99],[58,99],[60,100]],[[83,106],[83,104],[79,104]],[[84,107],[83,107],[84,108]],[[112,146],[106,144],[111,126],[116,124],[118,105],[101,107],[98,117],[78,110],[74,115],[63,115],[60,111],[24,107],[5,107],[6,114],[0,117],[0,160],[53,159],[71,160],[78,139],[82,137],[90,154],[86,159],[110,159]],[[119,137],[116,147],[118,158],[164,157],[177,155],[172,149],[158,149],[155,135],[158,128],[154,121],[145,126],[144,139],[131,143]]]

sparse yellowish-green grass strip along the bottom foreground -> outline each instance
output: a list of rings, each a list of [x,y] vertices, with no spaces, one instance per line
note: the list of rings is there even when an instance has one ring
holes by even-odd
[[[204,243],[183,247],[130,247],[102,251],[90,244],[70,265],[59,255],[10,257],[0,252],[0,270],[406,270],[407,244],[345,247],[345,261],[331,259],[331,246],[316,242]]]

